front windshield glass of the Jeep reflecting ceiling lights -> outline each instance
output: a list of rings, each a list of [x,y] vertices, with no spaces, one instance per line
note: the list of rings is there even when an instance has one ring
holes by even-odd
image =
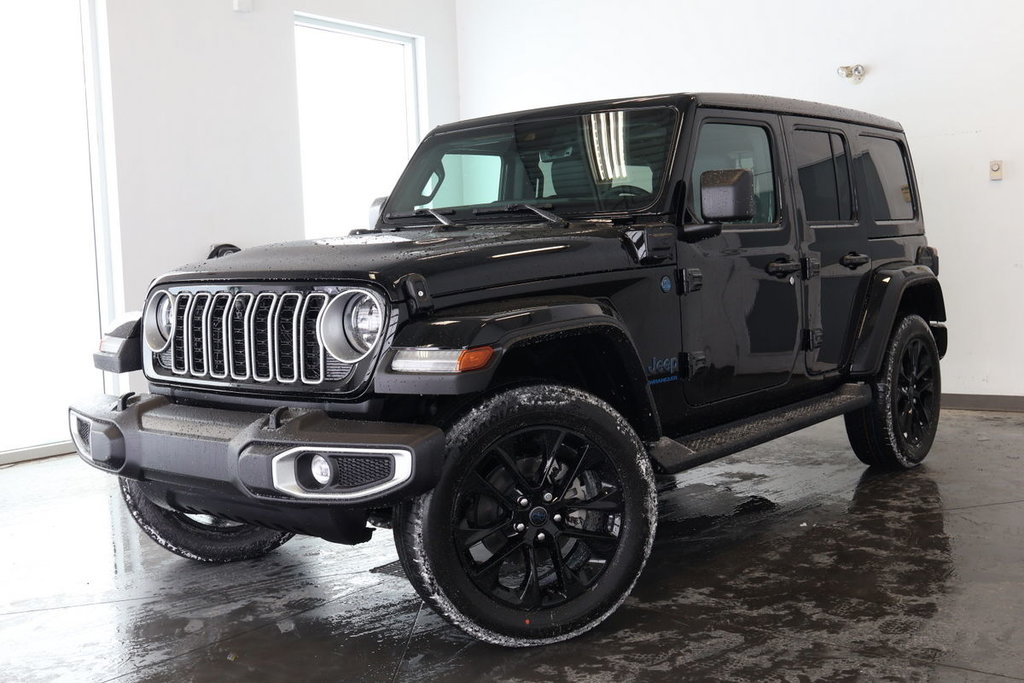
[[[645,208],[660,194],[676,121],[669,108],[617,110],[430,136],[392,193],[386,218],[521,204],[558,214]]]

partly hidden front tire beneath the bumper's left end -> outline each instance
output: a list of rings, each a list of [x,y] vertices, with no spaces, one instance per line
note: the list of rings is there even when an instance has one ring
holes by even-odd
[[[294,536],[254,524],[205,524],[160,507],[134,479],[120,477],[121,497],[132,519],[158,544],[199,562],[236,562],[266,555]]]

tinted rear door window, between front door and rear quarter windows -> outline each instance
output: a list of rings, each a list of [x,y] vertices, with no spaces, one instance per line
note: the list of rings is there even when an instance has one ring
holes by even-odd
[[[808,221],[853,218],[850,170],[843,136],[817,130],[793,134],[793,157]]]

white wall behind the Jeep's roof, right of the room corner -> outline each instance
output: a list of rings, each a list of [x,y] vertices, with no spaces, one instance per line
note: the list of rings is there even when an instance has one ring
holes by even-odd
[[[663,92],[752,92],[903,123],[941,254],[950,393],[1024,394],[1024,3],[458,0],[463,118]],[[840,65],[868,69],[860,85]],[[1006,179],[988,180],[1005,161]]]

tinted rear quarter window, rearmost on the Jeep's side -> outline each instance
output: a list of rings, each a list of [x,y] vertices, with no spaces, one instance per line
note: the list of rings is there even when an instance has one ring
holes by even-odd
[[[864,174],[865,207],[874,220],[910,220],[913,197],[903,147],[896,140],[861,136],[864,152],[857,157]]]

